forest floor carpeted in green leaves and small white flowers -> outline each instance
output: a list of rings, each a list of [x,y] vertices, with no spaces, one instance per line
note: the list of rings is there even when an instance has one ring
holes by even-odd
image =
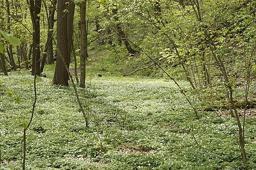
[[[47,77],[37,78],[27,169],[256,169],[255,116],[246,118],[244,165],[236,120],[203,111],[197,119],[167,79],[89,70],[86,88],[78,88],[88,105],[86,128],[73,87],[52,86],[53,71],[47,66]],[[0,76],[0,169],[21,169],[22,124],[34,102],[33,76],[25,70],[9,74]],[[179,83],[189,89],[187,82]]]

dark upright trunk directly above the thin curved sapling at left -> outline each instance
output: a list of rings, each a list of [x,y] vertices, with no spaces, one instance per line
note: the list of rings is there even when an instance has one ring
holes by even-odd
[[[41,0],[30,0],[30,14],[33,25],[32,75],[40,76],[40,11]]]

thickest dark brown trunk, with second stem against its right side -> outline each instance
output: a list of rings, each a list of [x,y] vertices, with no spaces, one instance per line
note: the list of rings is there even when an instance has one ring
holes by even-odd
[[[69,3],[67,3],[69,2]],[[57,60],[53,84],[68,86],[68,71],[71,58],[73,15],[75,4],[68,0],[57,2]],[[65,63],[63,63],[63,59]]]

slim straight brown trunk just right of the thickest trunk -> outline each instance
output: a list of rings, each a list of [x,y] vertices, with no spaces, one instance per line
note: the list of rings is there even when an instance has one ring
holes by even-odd
[[[82,1],[80,7],[81,19],[81,50],[80,50],[80,84],[85,88],[85,61],[87,58],[87,27],[86,27],[86,2]]]

